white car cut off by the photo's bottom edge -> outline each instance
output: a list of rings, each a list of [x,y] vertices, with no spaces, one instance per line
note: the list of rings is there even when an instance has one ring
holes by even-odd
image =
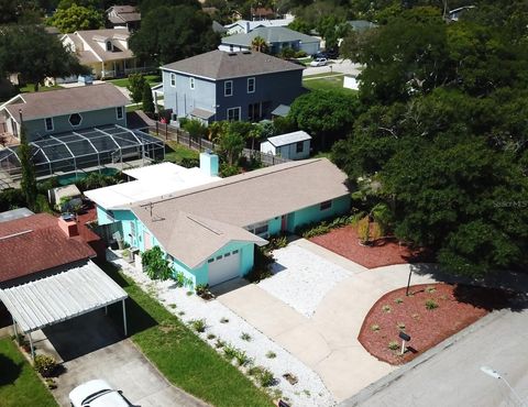
[[[118,391],[100,378],[75,387],[69,392],[69,402],[74,407],[130,407]]]

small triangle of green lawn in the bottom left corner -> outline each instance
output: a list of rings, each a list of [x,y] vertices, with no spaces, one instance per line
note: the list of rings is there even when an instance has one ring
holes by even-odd
[[[0,405],[57,406],[33,367],[9,338],[0,340]]]

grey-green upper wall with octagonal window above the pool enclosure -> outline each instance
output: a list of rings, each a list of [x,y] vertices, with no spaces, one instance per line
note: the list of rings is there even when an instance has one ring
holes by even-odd
[[[69,112],[64,116],[53,117],[53,130],[47,131],[45,118],[35,120],[24,120],[24,127],[28,134],[28,140],[31,142],[40,135],[57,134],[67,131],[76,131],[81,129],[95,128],[97,125],[119,124],[127,127],[127,113],[123,108],[123,119],[118,120],[116,108],[100,109],[85,112]],[[69,116],[72,113],[79,113],[82,118],[79,125],[73,127],[69,123]]]

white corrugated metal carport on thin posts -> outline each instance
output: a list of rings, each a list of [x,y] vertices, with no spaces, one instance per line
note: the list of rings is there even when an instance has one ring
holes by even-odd
[[[31,332],[96,309],[122,302],[124,336],[127,332],[128,294],[95,263],[63,271],[19,286],[0,289],[0,300],[16,326],[28,333],[34,355]]]

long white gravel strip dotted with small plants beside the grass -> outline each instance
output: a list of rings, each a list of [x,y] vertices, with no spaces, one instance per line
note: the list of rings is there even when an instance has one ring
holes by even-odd
[[[255,366],[261,365],[272,371],[276,380],[276,383],[268,387],[272,394],[276,395],[277,392],[280,392],[282,398],[292,406],[328,407],[336,405],[334,398],[317,373],[232,312],[228,307],[217,300],[205,301],[196,295],[187,295],[187,289],[176,287],[172,280],[153,282],[143,272],[140,272],[121,258],[112,262],[184,322],[188,323],[191,320],[205,319],[207,329],[198,334],[211,348],[216,349],[215,343],[218,339],[221,339],[226,343],[243,350],[252,359]],[[251,339],[249,341],[243,340],[241,338],[242,333],[248,333]],[[209,334],[213,334],[216,338],[208,339]],[[270,358],[271,353],[275,354],[275,356]],[[283,377],[286,373],[296,376],[298,382],[292,385]]]

